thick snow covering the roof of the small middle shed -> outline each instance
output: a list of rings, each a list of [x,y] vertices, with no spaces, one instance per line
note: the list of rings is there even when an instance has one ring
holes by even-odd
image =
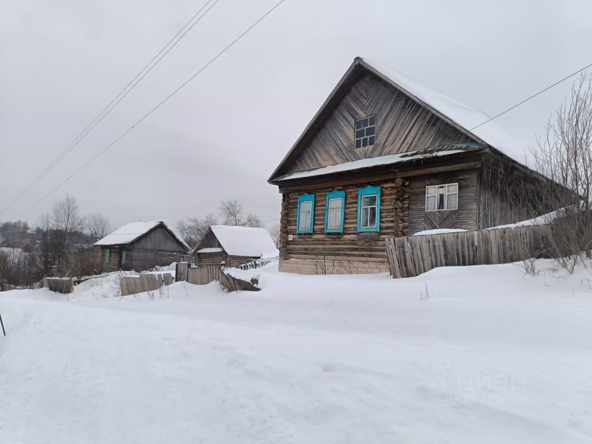
[[[264,228],[213,225],[214,236],[229,255],[250,258],[275,258],[279,255],[274,241]]]

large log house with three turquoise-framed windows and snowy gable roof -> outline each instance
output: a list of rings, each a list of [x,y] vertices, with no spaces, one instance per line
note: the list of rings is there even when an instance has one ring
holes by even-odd
[[[282,194],[279,270],[385,272],[387,236],[538,215],[510,189],[534,202],[545,179],[487,120],[357,57],[269,178]]]

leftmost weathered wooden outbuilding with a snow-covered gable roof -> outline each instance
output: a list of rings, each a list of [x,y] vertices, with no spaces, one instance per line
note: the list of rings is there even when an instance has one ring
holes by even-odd
[[[102,271],[144,271],[179,262],[189,253],[181,234],[166,221],[132,222],[95,242],[101,247]]]

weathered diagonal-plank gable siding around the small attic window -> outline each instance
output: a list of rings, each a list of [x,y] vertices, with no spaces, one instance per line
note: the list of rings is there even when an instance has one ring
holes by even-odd
[[[376,143],[355,149],[355,120],[370,115],[377,116]],[[353,84],[300,156],[281,173],[465,141],[472,139],[394,86],[366,73]]]

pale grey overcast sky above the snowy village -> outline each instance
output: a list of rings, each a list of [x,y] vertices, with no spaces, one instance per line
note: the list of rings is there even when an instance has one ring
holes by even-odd
[[[278,0],[220,0],[0,221],[13,220],[120,136]],[[0,2],[0,209],[206,0]],[[592,2],[286,0],[165,105],[20,216],[67,192],[115,226],[216,213],[237,198],[279,218],[266,180],[355,56],[490,115],[592,62]],[[564,82],[497,120],[525,149]],[[270,222],[270,224],[272,224]]]

